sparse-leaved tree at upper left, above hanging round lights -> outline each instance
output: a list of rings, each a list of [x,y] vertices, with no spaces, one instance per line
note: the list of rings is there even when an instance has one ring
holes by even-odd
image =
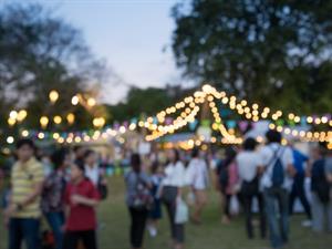
[[[0,9],[1,116],[8,116],[12,107],[25,107],[30,126],[37,127],[41,115],[65,115],[73,110],[72,96],[95,89],[92,83],[101,82],[105,72],[81,32],[52,12],[39,4]],[[52,106],[51,90],[60,93]],[[89,113],[79,114],[84,122],[76,123],[76,128],[91,125]],[[2,118],[1,125],[4,123]]]

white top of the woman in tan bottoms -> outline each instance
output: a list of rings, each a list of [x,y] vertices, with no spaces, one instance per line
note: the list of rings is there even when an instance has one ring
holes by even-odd
[[[208,169],[205,160],[193,158],[186,169],[186,183],[197,190],[208,186]]]

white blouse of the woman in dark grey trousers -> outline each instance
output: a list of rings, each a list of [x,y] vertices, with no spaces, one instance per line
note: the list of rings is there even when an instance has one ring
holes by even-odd
[[[168,164],[165,168],[165,178],[163,186],[184,187],[185,186],[185,166],[181,162]]]

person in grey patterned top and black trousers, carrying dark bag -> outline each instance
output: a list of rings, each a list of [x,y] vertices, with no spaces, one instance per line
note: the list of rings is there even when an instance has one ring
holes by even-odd
[[[142,170],[138,154],[132,155],[131,167],[131,170],[125,175],[126,205],[131,215],[129,239],[133,249],[141,249],[146,221],[154,199],[151,195],[151,178]]]

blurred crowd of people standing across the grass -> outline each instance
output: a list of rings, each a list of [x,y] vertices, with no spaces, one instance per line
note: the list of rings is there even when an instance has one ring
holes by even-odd
[[[297,198],[307,215],[303,226],[317,232],[332,231],[331,151],[317,146],[304,155],[292,144],[282,145],[282,136],[276,131],[269,131],[266,141],[260,145],[247,138],[241,146],[226,147],[219,156],[197,147],[190,154],[172,148],[166,156],[131,153],[131,167],[124,175],[131,247],[143,248],[146,230],[152,237],[158,236],[164,206],[172,247],[184,248],[186,222],[204,226],[211,186],[220,193],[221,222],[232,222],[241,209],[247,236],[253,239],[257,212],[259,235],[262,239],[269,236],[272,248],[289,242]],[[4,211],[9,249],[21,248],[23,240],[28,249],[41,248],[42,216],[56,249],[74,249],[80,241],[86,249],[97,248],[101,224],[95,207],[107,198],[106,169],[97,153],[81,146],[59,148],[50,156],[52,169],[48,173],[34,154],[31,139],[17,143]],[[305,191],[308,180],[310,195]]]

